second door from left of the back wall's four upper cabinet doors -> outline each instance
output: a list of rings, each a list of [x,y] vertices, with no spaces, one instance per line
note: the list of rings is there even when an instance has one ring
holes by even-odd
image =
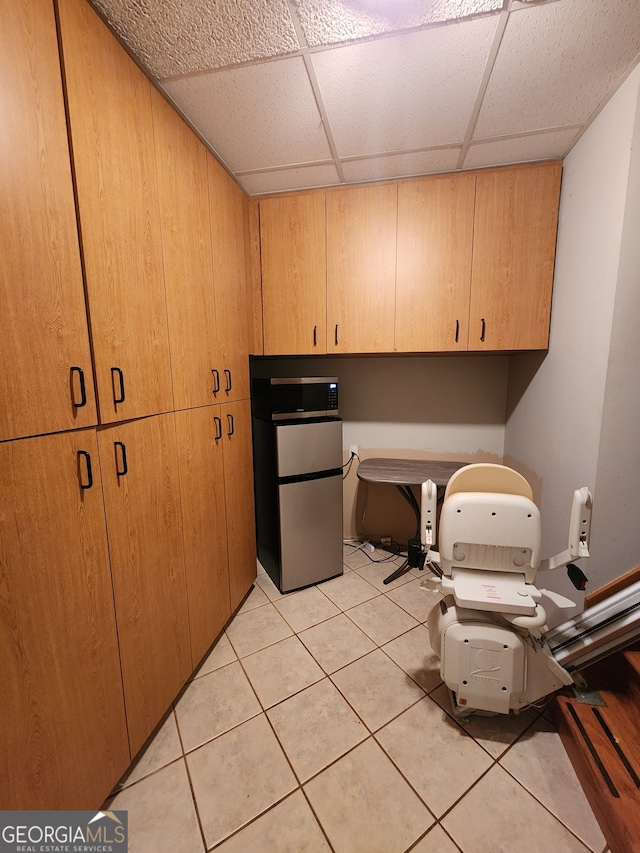
[[[327,193],[327,352],[393,352],[397,185]]]

